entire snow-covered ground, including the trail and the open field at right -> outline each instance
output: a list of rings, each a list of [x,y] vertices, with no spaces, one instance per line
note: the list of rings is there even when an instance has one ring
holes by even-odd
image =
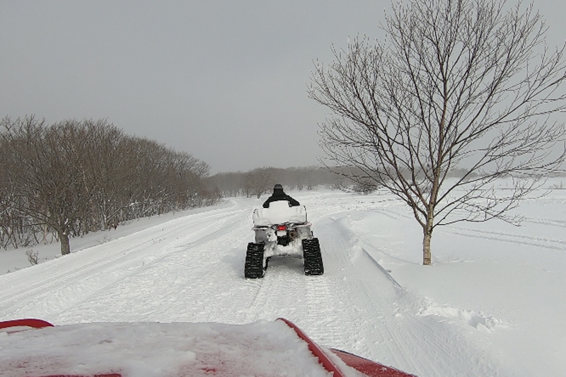
[[[232,198],[71,239],[80,251],[66,257],[45,261],[59,245],[36,246],[34,267],[24,268],[25,249],[0,250],[0,320],[284,317],[318,344],[420,377],[565,375],[566,190],[524,202],[519,227],[437,228],[429,267],[421,265],[422,231],[386,192],[289,194],[308,209],[322,276],[280,258],[265,278],[244,279],[252,212],[265,197]]]

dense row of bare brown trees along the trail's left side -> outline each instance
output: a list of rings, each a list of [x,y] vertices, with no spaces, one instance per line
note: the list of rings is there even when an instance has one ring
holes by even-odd
[[[212,204],[209,166],[105,120],[0,122],[0,246],[69,238],[141,216]]]

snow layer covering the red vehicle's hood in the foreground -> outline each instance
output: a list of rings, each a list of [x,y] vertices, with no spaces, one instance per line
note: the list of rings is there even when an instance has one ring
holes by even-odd
[[[279,320],[81,323],[0,332],[0,349],[2,377],[329,376],[308,344]],[[359,376],[345,364],[340,369]]]

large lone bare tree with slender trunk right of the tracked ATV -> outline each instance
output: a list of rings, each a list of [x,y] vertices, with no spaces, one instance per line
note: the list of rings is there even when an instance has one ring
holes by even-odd
[[[316,64],[309,96],[335,114],[320,126],[330,161],[410,206],[429,265],[434,228],[513,221],[509,209],[560,168],[564,47],[546,47],[532,6],[505,0],[408,0],[382,28],[386,42],[357,38]],[[501,177],[514,179],[507,195],[494,191]]]

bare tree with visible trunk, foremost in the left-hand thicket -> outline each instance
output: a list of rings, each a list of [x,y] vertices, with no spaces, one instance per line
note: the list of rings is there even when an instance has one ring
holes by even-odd
[[[45,120],[35,117],[3,124],[5,161],[11,166],[6,178],[17,189],[11,209],[54,229],[61,253],[69,254],[69,236],[86,204],[80,172],[72,163],[80,148],[73,144],[71,125],[45,127]]]

